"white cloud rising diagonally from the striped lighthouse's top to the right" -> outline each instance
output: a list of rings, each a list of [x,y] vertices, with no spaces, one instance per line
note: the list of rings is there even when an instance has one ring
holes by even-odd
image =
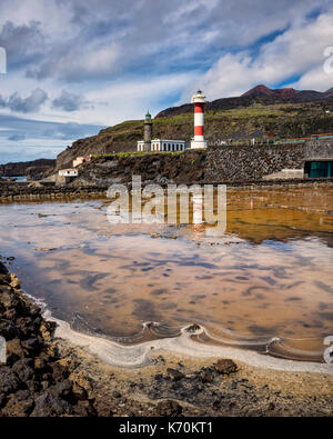
[[[333,13],[326,12],[315,21],[299,22],[272,42],[264,44],[258,56],[250,51],[225,53],[195,83],[209,99],[239,96],[258,83],[274,86],[294,76],[301,79],[291,86],[324,91],[333,84],[332,74],[324,72],[323,50],[333,41]],[[183,93],[189,100],[191,90]]]

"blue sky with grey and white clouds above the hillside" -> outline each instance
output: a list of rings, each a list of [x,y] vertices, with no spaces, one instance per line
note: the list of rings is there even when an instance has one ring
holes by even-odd
[[[188,102],[198,87],[209,100],[258,83],[324,91],[333,4],[0,0],[1,47],[0,163],[56,157],[103,127]]]

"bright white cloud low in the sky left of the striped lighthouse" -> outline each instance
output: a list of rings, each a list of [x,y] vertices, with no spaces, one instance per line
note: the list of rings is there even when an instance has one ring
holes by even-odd
[[[174,73],[155,77],[139,77],[118,81],[100,81],[93,87],[90,82],[72,84],[65,88],[61,82],[47,81],[48,101],[44,102],[42,112],[31,112],[30,118],[50,122],[77,122],[112,126],[128,119],[142,119],[149,109],[152,114],[168,107],[171,96],[180,96],[182,90],[192,82],[195,73]],[[8,76],[9,77],[9,76]],[[16,89],[16,80],[6,78],[7,90]],[[32,79],[26,79],[20,83],[22,96],[29,94],[27,90],[33,90]],[[8,93],[9,96],[10,93]],[[54,106],[54,100],[63,101],[64,97],[75,97],[80,108],[69,106]],[[62,98],[62,99],[61,99]],[[72,99],[71,99],[72,100]],[[65,102],[62,102],[65,103]],[[78,107],[78,106],[77,106]],[[14,110],[16,108],[12,108]],[[17,111],[2,109],[1,113],[21,116]]]

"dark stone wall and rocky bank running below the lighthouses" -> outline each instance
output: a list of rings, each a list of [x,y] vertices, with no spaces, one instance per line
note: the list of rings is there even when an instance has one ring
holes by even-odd
[[[79,168],[79,178],[71,184],[111,184],[129,182],[132,174],[143,182],[245,183],[262,181],[282,170],[302,178],[304,162],[310,159],[333,159],[333,141],[254,147],[214,147],[186,150],[184,153],[118,154],[93,159]],[[283,178],[283,177],[282,177]],[[289,177],[287,177],[289,178]]]

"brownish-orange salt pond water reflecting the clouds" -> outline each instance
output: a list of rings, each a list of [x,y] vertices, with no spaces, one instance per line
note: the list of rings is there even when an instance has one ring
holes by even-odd
[[[220,238],[204,225],[110,225],[107,207],[0,206],[1,253],[56,317],[127,343],[195,322],[210,333],[201,342],[322,361],[333,335],[332,189],[229,192]],[[161,325],[142,331],[147,321]]]

